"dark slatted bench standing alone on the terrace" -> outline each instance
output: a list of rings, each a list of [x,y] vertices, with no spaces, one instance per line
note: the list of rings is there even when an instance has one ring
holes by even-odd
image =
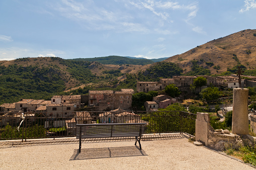
[[[99,123],[76,124],[76,138],[79,138],[79,153],[82,138],[135,137],[141,150],[140,139],[143,136],[146,123]]]

